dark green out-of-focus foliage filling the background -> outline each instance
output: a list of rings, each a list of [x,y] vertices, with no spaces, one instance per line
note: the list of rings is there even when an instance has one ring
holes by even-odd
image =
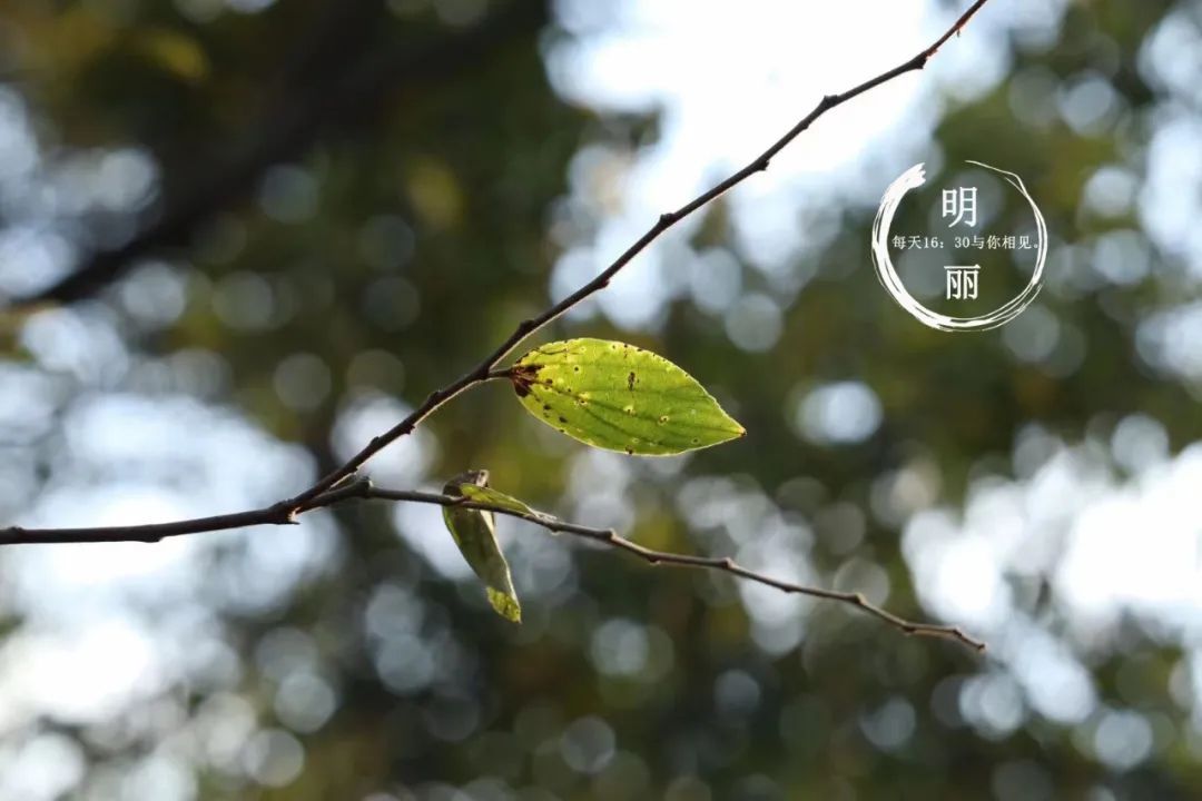
[[[589,143],[636,151],[654,138],[654,121],[596,118],[555,96],[540,53],[567,34],[540,4],[231,5],[256,12],[206,0],[10,0],[0,71],[48,160],[70,166],[112,151],[151,166],[142,196],[63,221],[81,263],[137,243],[156,221],[179,215],[186,223],[78,303],[108,315],[131,358],[177,366],[163,385],[131,370],[102,389],[195,394],[236,408],[303,446],[323,471],[339,461],[332,432],[349,411],[379,397],[411,407],[546,304],[563,245],[551,231],[569,204],[573,155]],[[1100,168],[1141,169],[1144,112],[1158,91],[1136,61],[1171,7],[1073,4],[1049,47],[994,42],[1012,50],[1010,77],[983,96],[950,102],[932,145],[942,172],[929,179],[950,180],[968,159],[1014,171],[1040,202],[1053,251],[1079,246],[1088,255],[1107,232],[1138,231],[1133,210],[1090,216],[1081,199]],[[1111,124],[1083,133],[1016,113],[1016,102],[1035,102],[1023,94],[1033,77],[1069,82],[1087,71],[1117,92],[1121,112]],[[244,175],[227,184],[228,171]],[[1020,198],[1007,203],[1002,217],[1022,215]],[[766,352],[740,349],[721,312],[688,297],[672,300],[657,334],[619,331],[600,317],[549,331],[664,354],[714,390],[746,426],[745,438],[667,467],[632,460],[619,470],[621,458],[582,455],[502,397],[507,388],[487,385],[429,420],[428,480],[488,468],[506,494],[587,525],[617,519],[636,542],[660,549],[733,552],[775,527],[805,542],[816,580],[875,576],[892,611],[926,618],[899,546],[906,515],[880,500],[899,477],[934,476],[921,483],[920,503],[956,507],[975,477],[1014,473],[1012,448],[1031,425],[1077,442],[1143,412],[1166,428],[1174,449],[1202,438],[1189,382],[1150,369],[1136,348],[1141,318],[1172,297],[1180,271],[1173,259],[1153,251],[1139,280],[1114,283],[1090,277],[1088,256],[1078,258],[1035,312],[1054,318],[1054,348],[1022,359],[1004,331],[953,336],[902,313],[870,269],[871,213],[834,210],[828,240],[792,265],[810,276],[792,288],[740,263],[744,291],[786,310]],[[737,253],[721,204],[707,214],[692,245]],[[922,227],[918,211],[903,207],[897,228]],[[178,315],[160,317],[171,295],[160,292],[165,281],[183,286],[183,300]],[[17,342],[10,337],[5,358],[34,360]],[[169,361],[180,354],[189,359]],[[879,397],[875,432],[839,447],[798,436],[798,399],[845,381]],[[59,402],[72,391],[83,389]],[[53,448],[49,437],[14,454],[41,465],[44,478]],[[611,516],[582,518],[589,510]],[[404,518],[383,504],[333,516],[328,536],[338,546],[328,569],[267,608],[214,604],[238,668],[232,679],[166,692],[182,716],[149,725],[129,710],[95,727],[36,724],[84,749],[78,797],[117,797],[114,775],[178,733],[201,739],[196,733],[240,721],[246,710],[261,728],[245,746],[261,752],[257,775],[242,748],[225,757],[184,748],[195,757],[188,770],[197,797],[1202,793],[1197,733],[1189,734],[1189,706],[1171,692],[1180,650],[1137,621],[1125,621],[1105,647],[1081,647],[1099,706],[1069,725],[1025,704],[989,656],[813,604],[799,606],[801,641],[774,650],[773,635],[746,611],[763,596],[564,537],[523,546],[545,534],[505,522],[525,617],[512,627],[488,610],[478,586],[448,580],[407,544],[445,532],[398,537]],[[236,567],[245,539],[222,542],[197,569],[237,596],[239,581],[250,587],[256,578]],[[1046,576],[1014,576],[1014,594],[1024,615],[1065,633]],[[314,712],[331,692],[334,707]],[[1000,705],[998,716],[1014,724],[970,719],[969,697]],[[1152,755],[1129,770],[1091,745],[1114,710],[1143,716],[1154,731]],[[279,769],[279,778],[272,765],[287,764],[298,746],[303,766],[294,775]]]

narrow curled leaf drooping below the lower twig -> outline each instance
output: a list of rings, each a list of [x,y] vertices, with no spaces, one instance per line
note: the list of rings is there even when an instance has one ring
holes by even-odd
[[[468,497],[481,503],[502,506],[495,503],[492,497],[488,500],[472,497],[472,492],[478,492],[480,490],[488,490],[487,470],[474,470],[460,473],[442,488],[444,495]],[[492,492],[492,490],[488,491]],[[508,501],[523,508],[525,507],[520,501],[510,498],[502,492],[495,492],[495,495],[508,498]],[[496,522],[493,513],[483,509],[464,509],[447,506],[442,507],[442,520],[446,521],[447,531],[451,532],[456,545],[459,546],[459,552],[463,554],[463,557],[468,561],[471,569],[476,572],[476,575],[480,576],[480,580],[484,582],[488,603],[493,605],[493,609],[501,617],[514,623],[520,623],[522,605],[518,603],[517,592],[513,591],[513,578],[510,575],[510,564],[505,561],[505,554],[501,552],[501,546],[496,542]]]

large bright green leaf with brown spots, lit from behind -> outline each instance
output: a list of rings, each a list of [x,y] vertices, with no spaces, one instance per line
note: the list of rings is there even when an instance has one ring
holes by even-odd
[[[625,342],[551,342],[518,359],[511,378],[526,411],[597,448],[667,456],[745,434],[692,376]]]

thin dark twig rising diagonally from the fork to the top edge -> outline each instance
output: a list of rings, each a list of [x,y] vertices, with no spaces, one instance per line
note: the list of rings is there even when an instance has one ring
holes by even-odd
[[[655,225],[653,225],[647,231],[647,233],[639,237],[633,245],[627,247],[620,256],[618,256],[618,258],[613,261],[613,263],[609,264],[609,267],[607,267],[600,274],[597,274],[596,277],[594,277],[591,281],[589,281],[588,283],[585,283],[579,289],[567,295],[559,303],[552,305],[542,313],[531,317],[529,319],[523,319],[520,323],[518,323],[517,328],[513,329],[513,333],[510,334],[504,342],[498,345],[492,353],[484,357],[480,361],[480,364],[477,364],[475,367],[472,367],[471,370],[469,370],[468,372],[465,372],[464,375],[462,375],[459,378],[451,382],[446,387],[442,387],[441,389],[436,389],[433,393],[430,393],[426,397],[426,400],[422,401],[422,405],[418,406],[416,410],[413,410],[413,412],[409,417],[406,417],[404,420],[401,420],[389,430],[385,431],[383,434],[374,437],[367,446],[364,446],[362,450],[359,450],[357,454],[346,460],[346,462],[344,462],[341,466],[334,468],[332,472],[322,477],[316,484],[314,484],[305,491],[300,492],[296,497],[285,501],[285,503],[290,504],[292,509],[298,512],[304,509],[307,504],[309,504],[309,502],[313,501],[313,498],[317,497],[319,495],[331,489],[332,486],[340,484],[347,477],[353,476],[358,471],[358,468],[362,467],[364,462],[367,462],[368,459],[374,456],[376,453],[387,447],[389,443],[395,442],[397,440],[407,434],[411,434],[413,429],[416,429],[422,423],[422,420],[424,420],[427,417],[434,413],[435,410],[446,404],[448,400],[475,387],[476,384],[487,381],[489,377],[494,375],[492,371],[501,361],[501,359],[512,353],[513,349],[518,347],[522,342],[524,342],[531,334],[536,333],[552,321],[557,319],[558,317],[571,310],[573,306],[579,305],[589,297],[596,294],[597,292],[607,287],[609,285],[609,281],[613,280],[613,277],[618,274],[619,270],[621,270],[621,268],[626,267],[626,264],[629,264],[636,256],[643,252],[643,250],[645,250],[648,245],[659,239],[659,237],[665,231],[667,231],[676,223],[680,222],[697,209],[704,207],[710,201],[721,197],[722,195],[728,192],[734,186],[738,186],[755,173],[768,169],[768,163],[776,156],[778,153],[784,150],[790,142],[796,139],[803,131],[805,131],[805,128],[810,127],[810,125],[816,119],[826,114],[828,110],[831,110],[837,106],[841,106],[843,103],[846,103],[849,100],[864,94],[869,89],[880,86],[881,84],[887,83],[893,78],[897,78],[898,76],[905,74],[908,72],[914,72],[916,70],[922,70],[927,65],[927,61],[930,59],[930,56],[933,56],[947,40],[950,40],[953,35],[959,32],[964,28],[964,25],[968,24],[969,19],[971,19],[972,16],[976,14],[976,12],[981,8],[981,6],[983,6],[987,1],[988,0],[976,0],[976,2],[969,6],[969,10],[965,11],[963,14],[960,14],[960,17],[956,20],[956,23],[951,28],[948,28],[942,36],[935,40],[935,42],[930,47],[922,50],[912,59],[903,64],[899,64],[892,70],[882,72],[875,78],[870,78],[864,83],[853,86],[843,94],[826,95],[825,97],[822,97],[822,100],[819,101],[817,106],[815,106],[809,114],[803,116],[801,121],[797,122],[797,125],[791,127],[783,137],[773,142],[767,150],[756,156],[750,163],[743,167],[743,169],[736,172],[726,180],[715,185],[713,189],[702,192],[692,201],[682,205],[676,211],[667,211],[665,214],[661,214],[659,220],[655,221]]]

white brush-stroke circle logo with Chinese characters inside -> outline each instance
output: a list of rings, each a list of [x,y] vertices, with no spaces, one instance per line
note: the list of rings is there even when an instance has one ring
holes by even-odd
[[[886,292],[889,293],[898,305],[910,312],[915,319],[923,325],[929,325],[930,328],[941,331],[983,331],[1004,325],[1017,317],[1023,309],[1035,300],[1035,295],[1040,292],[1041,281],[1043,279],[1043,261],[1047,256],[1047,223],[1045,223],[1043,215],[1040,213],[1039,207],[1035,205],[1035,201],[1031,199],[1031,196],[1027,192],[1027,187],[1023,186],[1022,179],[1014,173],[990,167],[989,165],[980,161],[969,161],[968,163],[983,167],[984,169],[1001,175],[1007,184],[1022,193],[1031,207],[1031,214],[1035,215],[1035,243],[1029,241],[1029,235],[992,235],[988,238],[981,235],[956,237],[957,243],[963,243],[963,246],[958,246],[957,250],[963,250],[964,247],[976,247],[977,250],[983,250],[988,245],[989,250],[1013,250],[1017,247],[1035,251],[1035,269],[1031,273],[1031,279],[1027,283],[1027,287],[1011,300],[983,315],[977,315],[975,317],[953,317],[932,311],[927,306],[922,305],[922,303],[915,299],[915,297],[910,294],[910,292],[902,283],[902,279],[898,276],[898,273],[893,267],[893,261],[889,257],[889,232],[893,225],[893,215],[897,211],[902,198],[905,197],[906,192],[910,190],[917,189],[926,183],[923,165],[921,162],[905,171],[895,181],[889,184],[889,187],[885,191],[885,197],[881,198],[881,208],[876,211],[876,219],[873,221],[873,265],[876,269],[876,277],[881,282],[881,286],[883,286]],[[945,219],[952,217],[952,222],[948,223],[948,227],[964,226],[964,229],[975,227],[976,213],[975,186],[958,186],[953,189],[945,189],[942,191],[942,216]],[[915,247],[942,249],[944,246],[942,239],[939,237],[893,237],[892,244],[895,247],[900,246],[903,249],[906,247],[908,244]],[[946,288],[945,294],[948,300],[977,298],[977,286],[981,271],[980,263],[945,264],[944,270]]]

